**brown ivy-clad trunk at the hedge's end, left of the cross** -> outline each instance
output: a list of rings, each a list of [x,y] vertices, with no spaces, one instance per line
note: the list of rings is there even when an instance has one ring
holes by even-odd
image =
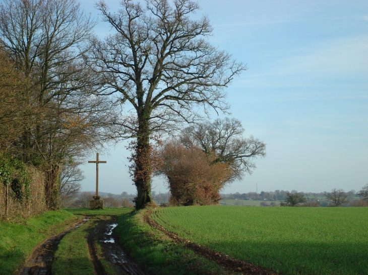
[[[56,210],[59,207],[59,165],[49,164],[46,166],[45,175],[45,197],[49,210]]]

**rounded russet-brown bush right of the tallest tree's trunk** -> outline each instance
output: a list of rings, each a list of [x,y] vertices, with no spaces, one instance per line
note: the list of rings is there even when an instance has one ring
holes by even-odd
[[[220,200],[219,191],[231,176],[224,163],[212,164],[200,148],[186,148],[171,141],[161,150],[160,172],[168,178],[171,203],[175,205],[210,205]]]

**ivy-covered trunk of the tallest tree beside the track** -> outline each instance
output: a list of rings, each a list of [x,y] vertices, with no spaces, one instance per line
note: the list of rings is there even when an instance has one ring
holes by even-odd
[[[139,133],[137,138],[134,183],[137,187],[137,197],[134,202],[136,209],[145,208],[152,202],[151,198],[151,146],[149,139],[149,124],[147,120],[139,121]]]

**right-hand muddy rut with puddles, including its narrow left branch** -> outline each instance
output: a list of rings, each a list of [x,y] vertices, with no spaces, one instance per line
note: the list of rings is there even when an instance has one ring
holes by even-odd
[[[94,241],[98,241],[101,245],[104,258],[109,261],[116,272],[122,275],[150,275],[150,273],[138,266],[127,251],[117,243],[117,236],[113,234],[113,229],[117,223],[114,218],[101,221],[94,229],[93,233],[88,236],[88,246],[90,255],[98,275],[106,274],[103,270],[101,262],[96,255],[96,245]]]

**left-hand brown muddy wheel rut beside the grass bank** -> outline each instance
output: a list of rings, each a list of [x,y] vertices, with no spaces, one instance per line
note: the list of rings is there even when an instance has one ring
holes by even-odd
[[[84,224],[88,219],[83,219],[72,226],[68,227],[63,232],[51,236],[35,247],[26,262],[20,268],[17,275],[51,275],[51,263],[54,254],[57,250],[59,242],[71,232]]]

